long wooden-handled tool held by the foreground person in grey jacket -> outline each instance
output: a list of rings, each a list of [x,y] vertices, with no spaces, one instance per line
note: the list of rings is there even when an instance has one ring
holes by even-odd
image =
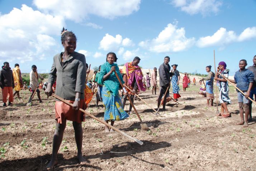
[[[55,98],[57,98],[57,99],[59,99],[60,101],[62,101],[62,102],[64,102],[64,103],[66,103],[66,104],[69,105],[69,106],[73,106],[72,103],[69,103],[68,101],[66,101],[65,99],[63,99],[63,98],[57,96],[57,95],[54,94],[54,93],[52,94],[52,96],[55,97]],[[139,145],[143,145],[143,142],[142,142],[142,141],[137,140],[136,138],[133,138],[133,137],[127,135],[127,134],[124,133],[123,131],[118,130],[117,128],[113,127],[112,125],[110,125],[110,124],[108,124],[108,123],[102,121],[101,119],[99,119],[99,118],[93,116],[92,114],[86,112],[84,109],[79,108],[79,111],[81,111],[81,112],[87,114],[88,116],[94,118],[95,120],[99,121],[100,123],[103,123],[104,125],[106,125],[106,126],[112,128],[113,130],[115,130],[115,131],[121,133],[123,136],[125,136],[125,137],[127,137],[127,138],[129,138],[129,139],[131,139],[131,140],[133,140],[133,141],[135,141],[135,142],[137,142]]]

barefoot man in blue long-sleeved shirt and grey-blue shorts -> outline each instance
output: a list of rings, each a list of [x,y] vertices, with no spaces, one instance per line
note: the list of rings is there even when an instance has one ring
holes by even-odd
[[[239,70],[234,75],[234,80],[228,79],[230,82],[237,84],[237,88],[239,88],[245,96],[241,92],[237,90],[237,98],[239,103],[240,117],[241,122],[236,125],[242,125],[243,127],[248,127],[248,116],[250,113],[249,103],[250,100],[248,97],[250,96],[250,92],[252,89],[252,84],[254,80],[254,74],[248,69],[245,69],[247,66],[247,61],[245,59],[240,60],[239,62]],[[243,118],[243,107],[245,107],[245,119]]]

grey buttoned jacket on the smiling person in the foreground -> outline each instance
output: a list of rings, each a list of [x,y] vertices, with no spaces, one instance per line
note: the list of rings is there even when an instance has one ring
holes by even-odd
[[[51,72],[49,73],[48,83],[54,83],[56,80],[56,95],[66,100],[75,100],[76,92],[80,92],[80,99],[84,99],[85,79],[86,79],[86,61],[85,55],[73,52],[61,65],[61,55],[53,57]],[[56,99],[57,100],[57,99]],[[58,101],[58,100],[57,100]]]

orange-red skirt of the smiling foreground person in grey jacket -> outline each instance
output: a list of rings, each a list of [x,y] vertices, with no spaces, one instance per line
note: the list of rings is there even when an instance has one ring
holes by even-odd
[[[74,101],[69,101],[70,103],[74,103]],[[80,108],[85,109],[85,100],[80,99]],[[55,120],[57,123],[62,123],[64,120],[75,121],[77,123],[81,123],[85,121],[84,113],[81,111],[74,111],[72,106],[67,105],[64,102],[56,101],[55,102]]]

